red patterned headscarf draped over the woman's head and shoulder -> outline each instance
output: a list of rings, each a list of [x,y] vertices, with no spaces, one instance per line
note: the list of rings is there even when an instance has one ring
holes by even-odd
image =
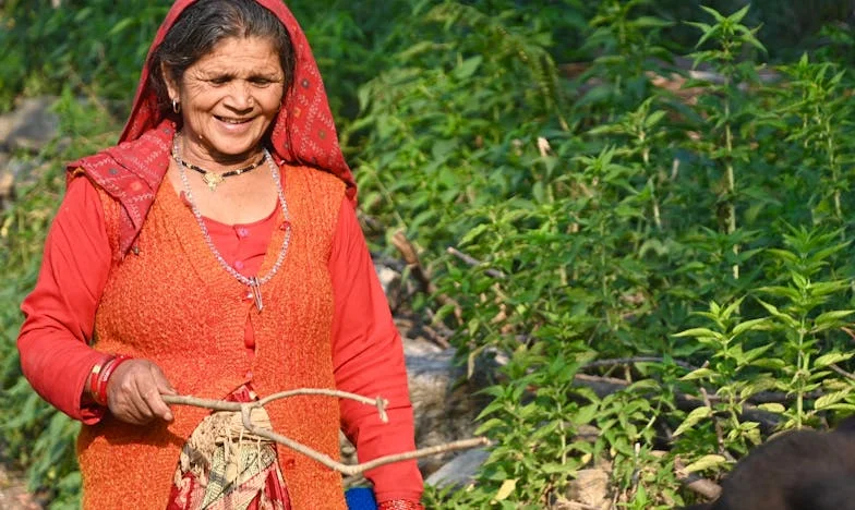
[[[152,53],[178,16],[194,1],[177,0],[157,31],[119,145],[68,166],[73,172],[82,170],[122,204],[127,215],[119,229],[120,255],[128,252],[143,227],[169,167],[169,150],[176,130],[172,121],[166,119],[158,108],[157,97],[148,83]],[[255,1],[285,25],[296,53],[293,84],[282,97],[282,106],[270,132],[274,155],[280,161],[333,173],[347,183],[348,197],[356,202],[353,175],[341,154],[324,84],[305,34],[281,0]]]

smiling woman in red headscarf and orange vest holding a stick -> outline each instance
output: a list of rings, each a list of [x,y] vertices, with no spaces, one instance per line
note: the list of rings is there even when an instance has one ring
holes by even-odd
[[[179,0],[118,146],[69,166],[22,309],[25,376],[85,426],[85,508],[345,507],[341,478],[161,396],[297,397],[258,422],[333,458],[412,450],[400,338],[353,210],[305,36],[278,0]],[[255,416],[253,416],[255,420]],[[420,508],[414,462],[366,473],[380,508]]]

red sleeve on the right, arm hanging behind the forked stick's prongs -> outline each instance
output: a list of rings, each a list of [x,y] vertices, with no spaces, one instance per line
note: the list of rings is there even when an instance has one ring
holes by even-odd
[[[388,400],[388,423],[376,409],[341,401],[341,425],[357,446],[360,462],[414,449],[413,416],[400,335],[392,319],[352,206],[344,202],[329,258],[335,294],[333,363],[336,386],[345,391]],[[387,464],[365,476],[378,502],[418,501],[422,493],[416,461]]]

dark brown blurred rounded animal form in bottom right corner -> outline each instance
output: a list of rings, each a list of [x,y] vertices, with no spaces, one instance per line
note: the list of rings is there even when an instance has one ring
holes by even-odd
[[[719,499],[684,510],[855,510],[855,416],[784,433],[739,460]]]

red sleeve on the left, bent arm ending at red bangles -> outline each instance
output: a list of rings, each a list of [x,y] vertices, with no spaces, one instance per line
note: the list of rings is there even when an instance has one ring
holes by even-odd
[[[107,275],[110,245],[98,193],[75,179],[48,232],[41,270],[21,305],[21,367],[36,392],[69,416],[97,422],[103,410],[81,408],[92,367],[104,354],[88,347]]]

